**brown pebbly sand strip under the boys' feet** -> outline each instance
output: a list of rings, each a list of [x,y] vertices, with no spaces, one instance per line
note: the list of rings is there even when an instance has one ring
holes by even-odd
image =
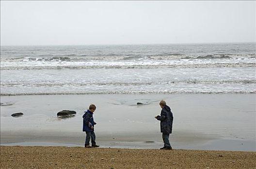
[[[256,152],[0,147],[1,169],[256,169]]]

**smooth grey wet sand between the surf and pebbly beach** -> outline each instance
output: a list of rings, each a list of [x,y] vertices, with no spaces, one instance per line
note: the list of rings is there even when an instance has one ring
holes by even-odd
[[[101,147],[159,149],[163,143],[154,116],[160,114],[161,99],[174,113],[170,142],[175,149],[256,151],[255,94],[1,96],[11,104],[0,107],[0,144],[83,146],[83,111],[94,103]],[[62,110],[77,114],[58,118]],[[16,112],[24,115],[12,117]]]

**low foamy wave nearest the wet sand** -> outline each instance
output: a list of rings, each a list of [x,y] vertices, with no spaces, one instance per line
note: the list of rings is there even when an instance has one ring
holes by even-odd
[[[177,80],[168,82],[96,82],[27,84],[1,82],[1,96],[85,94],[230,94],[256,93],[256,80]],[[178,86],[178,87],[177,87]],[[227,87],[217,87],[227,86]]]

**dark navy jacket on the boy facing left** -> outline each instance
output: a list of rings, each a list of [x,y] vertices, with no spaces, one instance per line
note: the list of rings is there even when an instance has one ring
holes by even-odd
[[[161,133],[172,133],[173,130],[173,113],[169,106],[164,106],[161,110],[161,114],[157,116],[160,120]]]

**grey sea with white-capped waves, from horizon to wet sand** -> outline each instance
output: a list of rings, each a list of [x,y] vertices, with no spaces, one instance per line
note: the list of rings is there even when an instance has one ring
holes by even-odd
[[[1,46],[0,92],[256,93],[256,43]]]

